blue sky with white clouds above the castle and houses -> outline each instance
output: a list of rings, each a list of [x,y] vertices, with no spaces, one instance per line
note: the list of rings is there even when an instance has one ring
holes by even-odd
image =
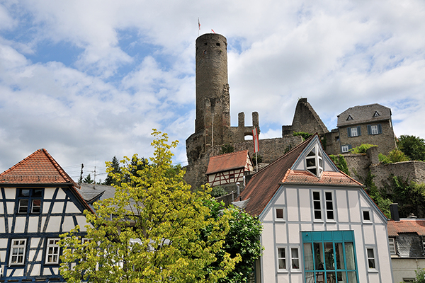
[[[198,18],[200,30],[198,29]],[[0,0],[0,172],[38,149],[74,180],[195,127],[195,41],[227,37],[230,115],[281,137],[299,98],[329,131],[356,105],[425,138],[425,1]]]

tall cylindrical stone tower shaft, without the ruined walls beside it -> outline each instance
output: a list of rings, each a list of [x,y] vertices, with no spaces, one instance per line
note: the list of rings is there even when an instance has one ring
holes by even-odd
[[[223,144],[230,127],[230,98],[227,81],[227,40],[215,33],[196,40],[195,132],[205,131],[205,144]]]

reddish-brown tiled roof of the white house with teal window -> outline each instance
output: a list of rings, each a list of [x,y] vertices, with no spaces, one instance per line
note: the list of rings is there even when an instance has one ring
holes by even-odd
[[[336,171],[337,169],[324,171],[320,178],[308,171],[291,169],[295,163],[298,163],[297,159],[300,158],[303,151],[308,149],[313,142],[320,142],[317,134],[312,135],[312,137],[306,139],[293,150],[252,176],[241,194],[242,200],[250,199],[248,204],[246,204],[246,212],[254,216],[261,214],[278,191],[280,185],[283,184],[361,186],[361,183],[344,173]]]

